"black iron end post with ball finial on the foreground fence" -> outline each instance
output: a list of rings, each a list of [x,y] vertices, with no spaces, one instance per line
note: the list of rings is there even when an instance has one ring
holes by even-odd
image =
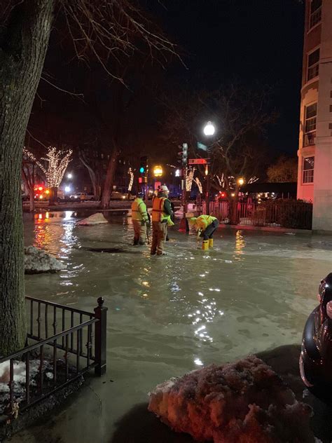
[[[107,308],[103,306],[104,299],[97,299],[98,306],[94,309],[95,318],[99,321],[95,324],[95,374],[102,376],[106,372],[106,321]]]

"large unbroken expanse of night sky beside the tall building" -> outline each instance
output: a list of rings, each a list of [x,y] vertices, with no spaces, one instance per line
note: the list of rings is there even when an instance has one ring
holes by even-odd
[[[157,0],[144,2],[170,39],[184,50],[188,69],[168,79],[193,88],[237,80],[272,87],[279,119],[268,130],[275,154],[296,156],[304,4],[298,0]]]

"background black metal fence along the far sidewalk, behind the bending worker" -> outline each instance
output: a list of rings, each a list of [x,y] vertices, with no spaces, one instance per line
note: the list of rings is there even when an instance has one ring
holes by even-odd
[[[205,203],[202,210],[205,212]],[[210,214],[226,224],[230,223],[227,201],[210,202]],[[275,226],[293,229],[312,229],[312,203],[296,200],[277,200],[263,203],[237,203],[237,224],[243,226]]]

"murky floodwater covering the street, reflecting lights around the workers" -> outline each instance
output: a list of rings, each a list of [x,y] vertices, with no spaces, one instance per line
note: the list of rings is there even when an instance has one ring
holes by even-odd
[[[157,383],[300,343],[319,281],[332,271],[328,237],[219,230],[214,250],[202,252],[194,234],[170,230],[167,256],[151,257],[131,245],[130,219],[76,226],[72,212],[52,215],[27,216],[25,244],[56,254],[67,270],[27,275],[27,295],[85,311],[102,296],[109,308],[107,374],[53,416],[56,442],[120,442],[116,423]],[[38,440],[32,431],[21,438]]]

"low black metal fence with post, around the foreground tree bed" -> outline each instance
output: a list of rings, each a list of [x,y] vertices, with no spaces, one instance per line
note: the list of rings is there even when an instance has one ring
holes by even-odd
[[[26,303],[27,346],[0,358],[0,364],[8,363],[9,392],[2,398],[8,415],[17,415],[90,369],[99,376],[106,372],[107,308],[102,297],[94,313],[32,297]]]

